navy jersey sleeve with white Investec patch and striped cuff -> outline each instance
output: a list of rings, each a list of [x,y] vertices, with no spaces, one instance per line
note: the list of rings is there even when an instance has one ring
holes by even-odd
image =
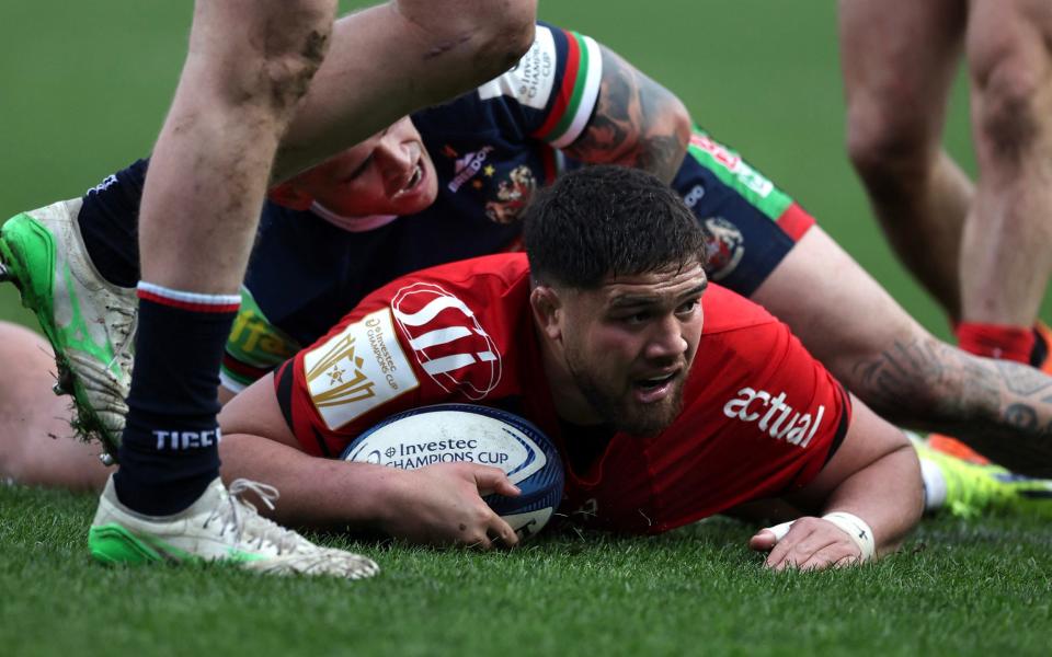
[[[587,125],[602,78],[603,56],[594,39],[538,23],[529,51],[477,93],[492,112],[511,115],[525,136],[565,148]]]

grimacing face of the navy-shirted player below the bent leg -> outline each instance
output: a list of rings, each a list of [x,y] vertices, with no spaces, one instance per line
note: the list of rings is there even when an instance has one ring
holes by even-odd
[[[294,184],[345,217],[413,215],[435,201],[435,165],[407,116],[297,176]]]

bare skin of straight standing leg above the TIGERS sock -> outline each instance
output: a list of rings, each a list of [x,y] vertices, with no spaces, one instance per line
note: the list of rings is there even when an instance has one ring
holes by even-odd
[[[144,280],[237,292],[278,140],[321,65],[334,12],[334,0],[198,0],[142,193]]]

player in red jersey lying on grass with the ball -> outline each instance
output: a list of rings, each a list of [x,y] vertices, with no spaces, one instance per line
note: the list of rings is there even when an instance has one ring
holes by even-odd
[[[787,326],[708,284],[704,230],[659,180],[614,166],[570,173],[527,211],[525,245],[528,264],[493,255],[395,280],[235,397],[222,413],[225,475],[274,482],[284,521],[514,543],[478,494],[479,473],[494,469],[327,458],[392,413],[460,401],[515,410],[551,436],[569,471],[562,510],[591,527],[654,533],[784,496],[816,516],[752,544],[773,549],[771,567],[812,568],[887,554],[917,521],[919,468],[902,433]],[[366,331],[385,358],[339,353]],[[423,333],[449,339],[414,339]],[[442,360],[483,350],[493,356]],[[313,376],[319,358],[369,377],[375,394],[316,404],[338,385]],[[490,487],[514,493],[499,480]]]

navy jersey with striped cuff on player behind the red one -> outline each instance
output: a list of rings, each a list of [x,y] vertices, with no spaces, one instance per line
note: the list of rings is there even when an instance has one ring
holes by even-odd
[[[584,130],[602,74],[592,38],[539,24],[513,69],[412,115],[438,180],[438,196],[424,211],[348,232],[317,205],[300,211],[268,201],[224,384],[240,390],[401,275],[516,250],[522,211],[563,168],[558,149]]]

